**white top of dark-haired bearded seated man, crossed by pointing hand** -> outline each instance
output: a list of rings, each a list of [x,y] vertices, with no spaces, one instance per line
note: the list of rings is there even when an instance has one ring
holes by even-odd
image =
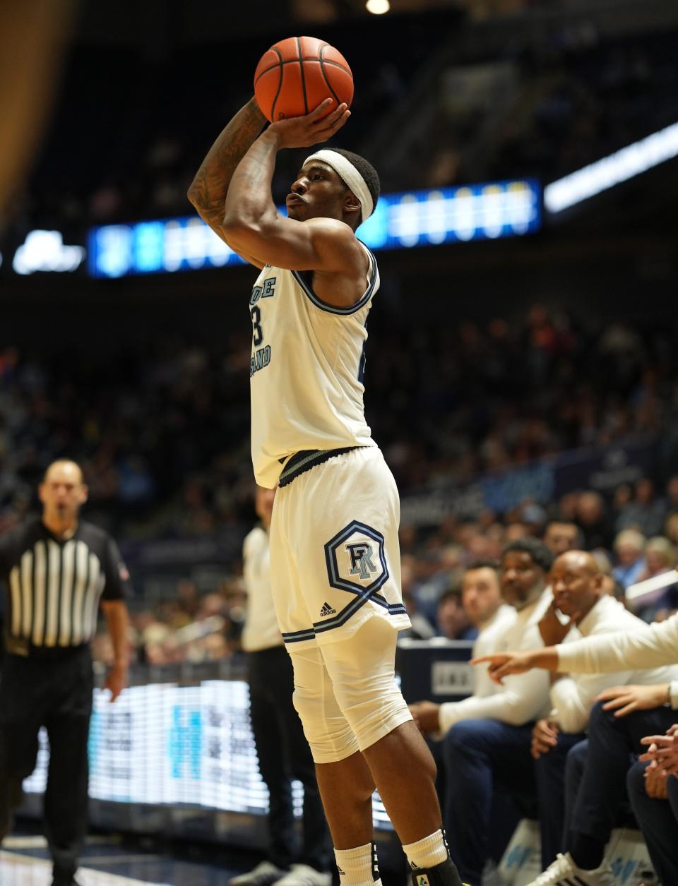
[[[527,652],[542,649],[539,622],[553,599],[550,588],[525,609],[516,613],[512,626],[498,639],[496,652],[516,649]],[[504,678],[503,686],[491,696],[471,696],[461,702],[440,705],[440,734],[464,719],[496,719],[510,726],[523,726],[550,710],[549,674],[533,670],[520,676]]]

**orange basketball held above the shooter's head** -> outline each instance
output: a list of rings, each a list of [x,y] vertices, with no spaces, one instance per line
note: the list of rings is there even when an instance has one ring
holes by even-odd
[[[325,98],[351,104],[353,74],[338,50],[316,37],[287,37],[264,52],[254,72],[257,105],[271,122],[310,113]]]

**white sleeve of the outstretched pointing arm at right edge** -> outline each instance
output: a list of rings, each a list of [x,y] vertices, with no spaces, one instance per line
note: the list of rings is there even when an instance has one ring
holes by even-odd
[[[641,625],[632,631],[617,631],[559,646],[558,670],[609,673],[625,667],[644,669],[678,663],[678,615],[652,625],[641,622]],[[671,707],[678,709],[678,680],[675,677],[671,680],[670,696]]]

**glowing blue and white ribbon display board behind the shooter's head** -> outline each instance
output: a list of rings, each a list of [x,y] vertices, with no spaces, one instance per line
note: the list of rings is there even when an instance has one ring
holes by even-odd
[[[284,208],[278,207],[284,214]],[[542,190],[532,179],[385,194],[357,230],[370,249],[406,249],[520,237],[539,229]],[[224,268],[245,262],[197,215],[104,225],[88,235],[94,277]]]

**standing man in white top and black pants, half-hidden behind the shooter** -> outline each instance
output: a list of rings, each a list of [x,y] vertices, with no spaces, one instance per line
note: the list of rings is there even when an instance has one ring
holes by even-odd
[[[268,859],[230,886],[330,886],[329,833],[316,771],[299,714],[292,704],[292,662],[284,649],[270,590],[269,525],[274,489],[257,486],[254,507],[261,525],[243,544],[247,614],[242,646],[247,654],[250,718],[261,778],[269,789]],[[292,779],[304,786],[300,851],[292,811]]]

